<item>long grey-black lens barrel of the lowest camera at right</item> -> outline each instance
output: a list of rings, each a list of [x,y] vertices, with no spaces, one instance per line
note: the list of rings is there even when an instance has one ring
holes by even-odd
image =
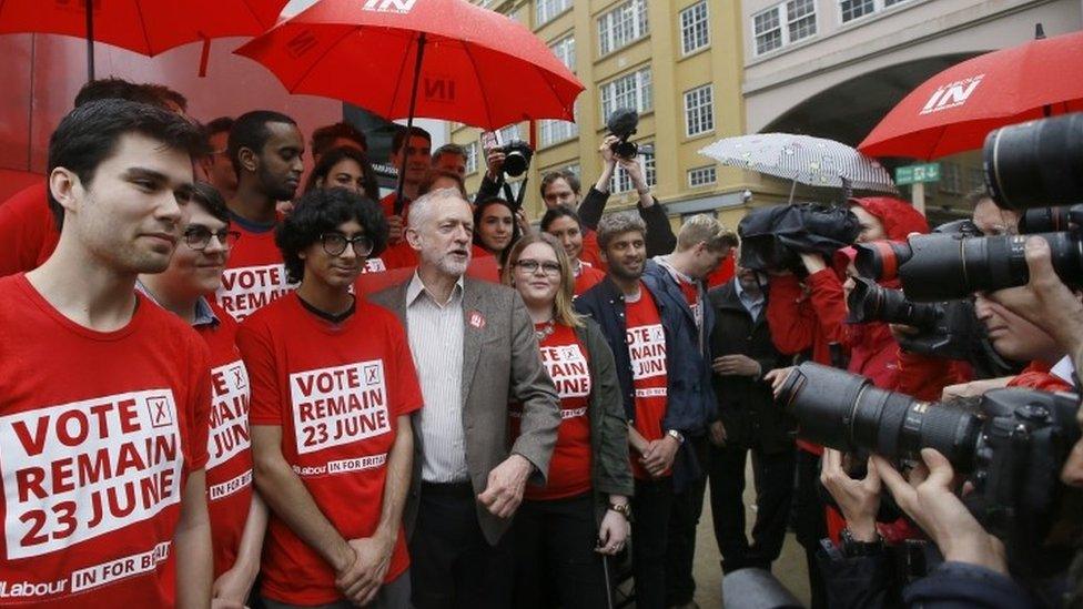
[[[974,468],[982,426],[974,413],[887,392],[812,362],[790,372],[776,402],[797,418],[803,439],[892,460],[917,460],[922,448],[935,448],[957,470]]]

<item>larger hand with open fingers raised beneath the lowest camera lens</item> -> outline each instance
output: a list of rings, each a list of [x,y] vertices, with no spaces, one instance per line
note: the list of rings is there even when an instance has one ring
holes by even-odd
[[[940,548],[944,560],[969,562],[1008,575],[1004,545],[974,519],[955,495],[958,480],[948,458],[932,448],[921,450],[922,464],[909,478],[883,457],[873,455],[874,466],[895,504]]]

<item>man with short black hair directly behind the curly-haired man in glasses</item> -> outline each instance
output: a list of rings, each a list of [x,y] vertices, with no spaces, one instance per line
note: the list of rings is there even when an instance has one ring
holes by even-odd
[[[292,200],[301,183],[304,138],[290,116],[254,110],[233,122],[229,154],[237,187],[226,204],[231,229],[241,237],[230,253],[215,301],[241,322],[295,287],[274,244],[274,229],[281,220],[275,205]]]

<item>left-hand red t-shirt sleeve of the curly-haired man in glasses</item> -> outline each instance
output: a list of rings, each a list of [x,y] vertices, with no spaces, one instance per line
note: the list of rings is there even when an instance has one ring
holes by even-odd
[[[263,316],[245,319],[237,328],[237,349],[249,371],[249,423],[282,425],[281,392],[275,371],[274,344]]]

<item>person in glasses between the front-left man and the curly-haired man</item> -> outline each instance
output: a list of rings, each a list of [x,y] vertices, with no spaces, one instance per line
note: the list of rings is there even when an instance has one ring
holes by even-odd
[[[211,352],[211,417],[206,443],[208,510],[214,549],[213,598],[242,606],[260,572],[267,509],[252,491],[249,374],[236,347],[237,324],[208,300],[237,233],[225,201],[205,182],[195,184],[189,221],[170,266],[140,275],[136,287],[195,328]]]

